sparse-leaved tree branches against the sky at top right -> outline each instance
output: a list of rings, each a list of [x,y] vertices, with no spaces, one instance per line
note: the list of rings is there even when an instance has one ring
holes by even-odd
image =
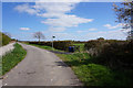
[[[133,40],[133,1],[124,1],[120,6],[113,4],[117,21],[122,23],[123,29],[130,29],[127,37]]]

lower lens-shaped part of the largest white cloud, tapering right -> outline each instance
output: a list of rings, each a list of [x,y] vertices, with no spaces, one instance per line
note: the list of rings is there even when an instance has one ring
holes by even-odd
[[[41,23],[44,23],[51,26],[71,28],[71,26],[78,26],[81,23],[88,23],[92,21],[93,19],[83,19],[76,15],[62,15],[58,19],[48,19],[45,21],[42,21]]]

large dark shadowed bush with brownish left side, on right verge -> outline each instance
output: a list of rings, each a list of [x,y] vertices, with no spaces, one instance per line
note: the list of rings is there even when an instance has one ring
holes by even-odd
[[[94,57],[94,63],[112,69],[133,67],[133,42],[105,40],[89,41],[85,50]]]

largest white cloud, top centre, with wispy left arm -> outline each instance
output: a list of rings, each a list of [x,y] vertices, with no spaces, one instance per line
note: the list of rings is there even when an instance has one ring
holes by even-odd
[[[82,23],[92,22],[93,19],[84,19],[78,16],[75,14],[68,14],[75,8],[75,6],[81,0],[75,2],[39,2],[37,1],[35,4],[19,4],[14,8],[14,10],[19,12],[27,12],[29,14],[34,14],[37,16],[45,18],[45,20],[41,21],[51,28],[73,28],[78,26]],[[61,30],[62,31],[62,30]]]

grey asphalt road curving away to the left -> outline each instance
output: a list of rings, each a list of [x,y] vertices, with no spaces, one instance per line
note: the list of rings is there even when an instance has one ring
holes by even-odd
[[[4,75],[3,86],[81,86],[76,76],[53,53],[21,44],[25,58]]]

